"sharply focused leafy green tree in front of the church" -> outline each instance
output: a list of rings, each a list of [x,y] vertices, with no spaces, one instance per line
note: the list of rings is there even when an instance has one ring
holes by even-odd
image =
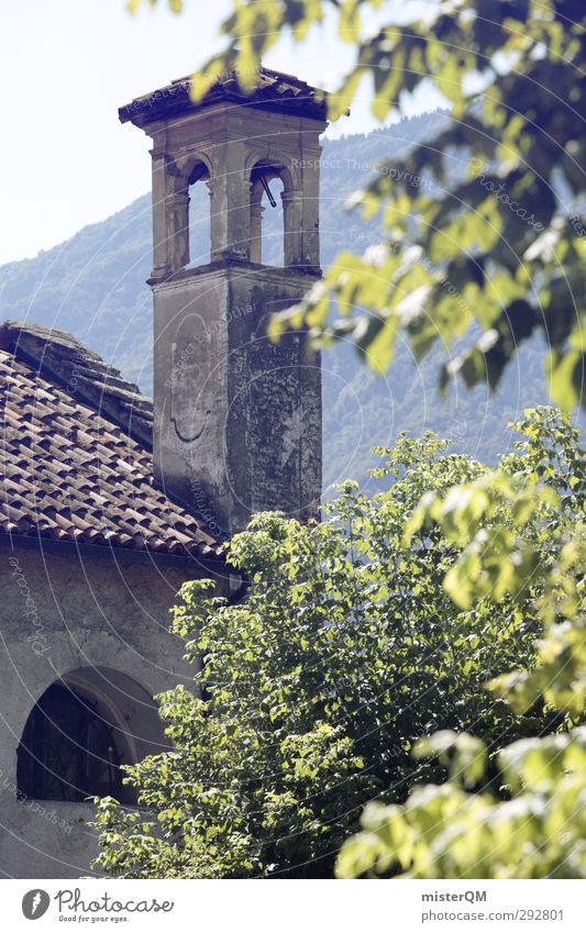
[[[347,482],[322,523],[265,514],[233,540],[231,559],[250,580],[244,602],[210,596],[209,581],[183,588],[174,629],[199,668],[196,691],[159,698],[174,751],[128,768],[144,809],[99,802],[100,868],[328,875],[367,800],[400,802],[417,780],[445,779],[444,762],[413,760],[421,736],[469,730],[494,751],[560,725],[540,696],[516,711],[483,686],[532,669],[541,600],[553,592],[543,571],[518,560],[496,597],[478,589],[456,606],[442,581],[467,559],[453,527],[471,497],[443,525],[418,511],[477,485],[477,533],[490,541],[505,527],[519,553],[530,542],[538,566],[553,567],[576,523],[574,508],[559,508],[566,480],[556,480],[574,463],[571,429],[546,411],[520,426],[524,440],[504,462],[515,495],[433,435],[401,437],[384,452],[384,491],[367,497]],[[521,490],[541,470],[549,491],[523,508]]]

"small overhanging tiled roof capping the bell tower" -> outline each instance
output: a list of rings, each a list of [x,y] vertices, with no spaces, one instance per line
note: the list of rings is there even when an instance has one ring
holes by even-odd
[[[220,78],[195,103],[190,98],[191,78],[177,78],[170,85],[151,93],[135,98],[118,111],[122,123],[137,123],[141,126],[158,120],[168,120],[186,113],[195,113],[215,103],[231,103],[262,110],[276,110],[285,113],[308,116],[313,120],[327,119],[327,93],[313,88],[294,75],[273,71],[262,67],[258,71],[257,87],[246,93],[239,85],[235,71]]]

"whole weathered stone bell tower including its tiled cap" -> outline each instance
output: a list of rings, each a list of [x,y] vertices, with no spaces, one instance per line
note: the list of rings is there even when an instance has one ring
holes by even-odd
[[[195,104],[181,79],[119,111],[153,140],[155,477],[226,534],[258,511],[317,514],[321,492],[320,362],[305,330],[275,345],[266,325],[321,274],[325,101],[289,75],[258,77],[251,96],[231,75]],[[281,267],[261,255],[272,181],[283,185]],[[210,196],[210,260],[197,266],[194,185]]]

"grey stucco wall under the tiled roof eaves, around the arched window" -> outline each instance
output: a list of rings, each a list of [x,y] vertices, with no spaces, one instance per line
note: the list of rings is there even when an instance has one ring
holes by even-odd
[[[194,675],[183,642],[168,631],[168,610],[181,584],[197,576],[210,574],[195,560],[165,565],[107,548],[0,546],[1,876],[88,874],[96,852],[91,806],[18,799],[16,749],[26,719],[57,678],[77,671],[120,708],[134,754],[159,748],[165,740],[150,698]]]

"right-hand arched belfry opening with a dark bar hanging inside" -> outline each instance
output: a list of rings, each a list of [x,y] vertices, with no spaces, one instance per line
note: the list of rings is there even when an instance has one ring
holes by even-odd
[[[285,169],[258,162],[251,174],[251,260],[284,266],[286,224],[283,192]]]

